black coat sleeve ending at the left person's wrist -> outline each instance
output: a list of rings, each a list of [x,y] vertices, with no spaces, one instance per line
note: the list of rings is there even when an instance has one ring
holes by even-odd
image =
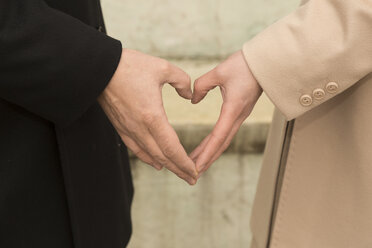
[[[104,90],[121,43],[42,0],[0,1],[0,98],[56,125]]]

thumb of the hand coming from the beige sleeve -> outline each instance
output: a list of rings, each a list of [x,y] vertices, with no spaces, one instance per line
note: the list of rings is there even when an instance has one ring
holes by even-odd
[[[193,104],[200,102],[216,86],[218,86],[218,78],[215,69],[213,69],[195,80],[191,102]]]

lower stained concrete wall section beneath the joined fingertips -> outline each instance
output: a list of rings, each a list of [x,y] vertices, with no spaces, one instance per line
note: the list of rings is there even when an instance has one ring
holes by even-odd
[[[134,162],[129,248],[248,248],[261,159],[225,155],[193,187],[168,171]]]

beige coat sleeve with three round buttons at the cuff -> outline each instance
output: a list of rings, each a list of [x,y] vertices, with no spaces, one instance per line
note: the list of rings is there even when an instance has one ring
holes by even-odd
[[[294,119],[372,71],[372,1],[310,0],[244,44],[257,81]]]

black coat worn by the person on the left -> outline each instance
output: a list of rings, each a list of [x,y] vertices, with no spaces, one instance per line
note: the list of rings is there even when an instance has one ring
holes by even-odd
[[[129,240],[128,154],[96,100],[122,47],[103,32],[99,0],[0,0],[1,248]]]

